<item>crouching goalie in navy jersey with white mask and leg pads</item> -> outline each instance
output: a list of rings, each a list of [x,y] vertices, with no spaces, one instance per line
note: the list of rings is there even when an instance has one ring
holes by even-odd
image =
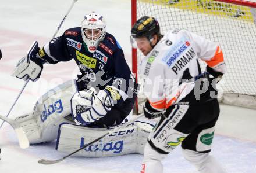
[[[41,49],[34,42],[13,76],[40,78],[45,63],[76,61],[77,79],[48,91],[33,110],[17,117],[30,144],[56,141],[56,150],[73,152],[125,120],[133,109],[138,84],[101,14],[90,13],[81,27],[70,28]],[[69,67],[66,67],[69,68]],[[143,153],[152,126],[136,122],[94,143],[79,156],[105,157]]]

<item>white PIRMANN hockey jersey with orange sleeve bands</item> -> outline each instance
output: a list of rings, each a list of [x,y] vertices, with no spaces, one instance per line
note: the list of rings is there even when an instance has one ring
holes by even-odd
[[[141,61],[143,91],[153,108],[163,110],[186,97],[194,83],[181,83],[201,73],[198,58],[215,71],[225,73],[223,53],[218,45],[186,30],[170,30]],[[184,90],[183,90],[184,89]]]

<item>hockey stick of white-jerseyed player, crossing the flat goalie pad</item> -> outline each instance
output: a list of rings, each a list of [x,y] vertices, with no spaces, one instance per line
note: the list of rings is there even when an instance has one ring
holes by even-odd
[[[126,123],[124,123],[124,124],[121,124],[120,126],[118,126],[118,127],[114,128],[113,130],[107,132],[106,134],[102,135],[101,137],[95,139],[94,141],[91,141],[90,143],[87,143],[87,144],[84,145],[82,148],[75,150],[73,153],[70,153],[70,154],[68,154],[67,156],[62,157],[62,159],[58,159],[58,160],[46,160],[46,159],[41,159],[41,160],[38,160],[38,163],[40,163],[40,164],[55,164],[55,163],[59,163],[59,162],[61,162],[62,160],[66,159],[67,157],[72,156],[73,154],[79,152],[80,150],[83,150],[83,149],[86,148],[87,146],[90,146],[90,145],[92,145],[93,143],[99,141],[100,139],[104,138],[106,135],[112,134],[113,132],[118,131],[118,130],[120,130],[120,129],[123,128],[123,127],[126,127],[127,125],[129,125],[130,123],[133,123],[134,121],[136,121],[137,119],[139,119],[139,118],[142,117],[142,116],[144,116],[143,113],[142,113],[141,115],[138,115],[138,116],[134,117],[134,118],[131,119],[130,121],[128,121],[128,122],[126,122]]]

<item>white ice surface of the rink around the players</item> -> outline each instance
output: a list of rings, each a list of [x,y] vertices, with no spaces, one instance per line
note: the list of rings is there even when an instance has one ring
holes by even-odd
[[[0,115],[6,115],[15,101],[23,80],[10,76],[19,58],[26,54],[31,43],[37,40],[40,46],[51,39],[72,0],[0,0]],[[79,27],[84,14],[96,11],[104,15],[107,30],[122,46],[126,60],[131,64],[130,27],[131,8],[129,0],[79,0],[63,24],[66,28]],[[45,65],[41,79],[29,82],[9,117],[15,118],[33,109],[35,101],[45,91],[76,76],[74,61]],[[252,86],[255,87],[255,86]],[[224,165],[227,172],[256,172],[256,110],[221,106],[221,115],[216,126],[212,154]],[[5,123],[0,130],[2,150],[0,173],[47,173],[47,172],[140,172],[143,156],[105,158],[70,157],[62,163],[40,165],[39,159],[59,159],[65,156],[55,150],[55,142],[33,145],[22,150],[12,128]],[[194,167],[183,159],[180,148],[173,150],[163,162],[164,172],[192,173]]]

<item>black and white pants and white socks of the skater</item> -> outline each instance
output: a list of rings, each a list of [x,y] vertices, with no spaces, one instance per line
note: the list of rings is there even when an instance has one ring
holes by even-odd
[[[180,143],[185,159],[199,172],[224,173],[218,161],[209,156],[218,116],[216,99],[202,104],[170,106],[148,137],[141,173],[162,172],[161,161]]]

